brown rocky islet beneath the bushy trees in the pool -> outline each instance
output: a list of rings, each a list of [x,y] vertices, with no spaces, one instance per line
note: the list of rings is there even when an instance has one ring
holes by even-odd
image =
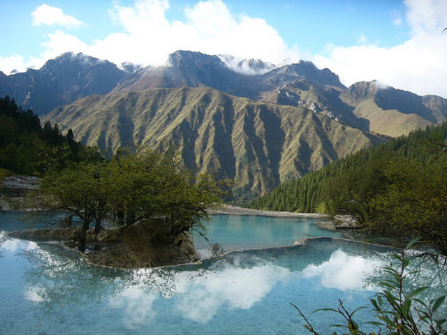
[[[87,249],[83,257],[91,264],[104,267],[141,268],[179,265],[195,262],[200,256],[189,232],[173,236],[162,219],[142,220],[127,228],[94,229],[87,233]],[[58,241],[76,246],[78,228],[47,228],[10,232],[10,237],[31,241]]]

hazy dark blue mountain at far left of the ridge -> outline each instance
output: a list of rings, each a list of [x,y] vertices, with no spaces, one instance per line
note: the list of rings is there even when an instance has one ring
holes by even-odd
[[[109,61],[66,52],[39,70],[0,76],[0,96],[42,115],[90,94],[107,94],[126,75]]]

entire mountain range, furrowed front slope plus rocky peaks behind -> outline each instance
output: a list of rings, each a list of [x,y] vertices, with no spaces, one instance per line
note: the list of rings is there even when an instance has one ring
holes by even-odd
[[[309,61],[235,66],[228,56],[189,51],[170,54],[166,66],[122,69],[66,53],[40,70],[0,73],[6,94],[109,155],[175,144],[188,168],[233,179],[237,195],[248,197],[447,119],[444,98],[374,81],[344,87]]]

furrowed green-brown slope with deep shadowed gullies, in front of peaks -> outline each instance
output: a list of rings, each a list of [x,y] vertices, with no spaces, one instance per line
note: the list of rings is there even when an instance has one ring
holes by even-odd
[[[210,88],[149,89],[89,96],[45,121],[112,154],[118,147],[174,144],[186,167],[256,195],[386,140],[303,107],[258,103]]]

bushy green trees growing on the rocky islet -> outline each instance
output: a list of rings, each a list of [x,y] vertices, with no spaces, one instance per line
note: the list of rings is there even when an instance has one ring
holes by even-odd
[[[219,203],[221,189],[208,175],[191,179],[168,153],[119,151],[110,161],[48,172],[34,198],[36,206],[47,209],[44,215],[54,214],[60,225],[80,220],[78,242],[83,251],[91,224],[98,233],[105,222],[126,227],[143,218],[162,218],[173,237],[203,228],[200,219]]]

